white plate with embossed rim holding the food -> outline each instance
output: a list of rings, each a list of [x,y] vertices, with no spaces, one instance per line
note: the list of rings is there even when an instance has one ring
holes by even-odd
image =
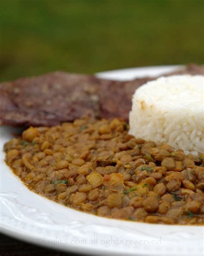
[[[98,73],[127,80],[175,66]],[[89,254],[202,255],[204,227],[117,221],[66,208],[29,191],[4,163],[3,144],[15,128],[0,127],[0,224],[3,233],[49,248]]]

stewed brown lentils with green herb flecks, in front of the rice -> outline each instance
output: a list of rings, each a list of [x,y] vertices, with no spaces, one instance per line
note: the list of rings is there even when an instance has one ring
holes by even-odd
[[[204,154],[185,155],[128,130],[117,118],[30,127],[5,144],[6,163],[31,191],[71,208],[148,223],[204,224]]]

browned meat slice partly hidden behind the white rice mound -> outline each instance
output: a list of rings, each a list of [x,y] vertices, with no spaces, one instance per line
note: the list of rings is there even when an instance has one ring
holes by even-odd
[[[164,74],[164,76],[191,74],[204,75],[204,67],[196,64],[190,64],[181,67],[175,72]],[[124,118],[126,122],[129,119],[129,112],[132,107],[132,96],[135,90],[142,84],[155,80],[155,77],[138,78],[127,82],[101,81],[99,87],[99,102],[102,118]]]

